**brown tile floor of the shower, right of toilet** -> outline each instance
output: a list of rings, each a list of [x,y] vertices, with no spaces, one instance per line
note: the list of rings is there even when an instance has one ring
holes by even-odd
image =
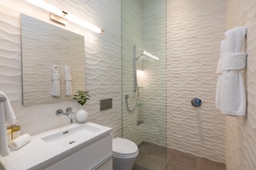
[[[143,142],[132,170],[226,170],[224,163]]]

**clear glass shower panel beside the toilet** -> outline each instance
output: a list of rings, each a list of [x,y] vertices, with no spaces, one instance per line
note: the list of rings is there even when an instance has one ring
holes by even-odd
[[[123,137],[166,167],[166,0],[122,0]],[[154,151],[153,151],[154,150]],[[159,166],[159,167],[155,167]],[[162,168],[163,167],[163,168]]]

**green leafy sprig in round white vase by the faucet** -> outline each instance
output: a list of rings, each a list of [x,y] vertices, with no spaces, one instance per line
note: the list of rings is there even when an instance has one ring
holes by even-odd
[[[76,114],[77,121],[85,122],[88,117],[88,113],[87,111],[84,111],[83,105],[87,102],[87,100],[90,99],[89,91],[78,90],[77,94],[73,95],[73,99],[77,99],[77,102],[79,103],[79,105],[81,105],[80,110]]]

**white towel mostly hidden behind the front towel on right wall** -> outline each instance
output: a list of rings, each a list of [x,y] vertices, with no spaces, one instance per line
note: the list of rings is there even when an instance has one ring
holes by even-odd
[[[225,52],[225,41],[222,40],[220,42],[220,55],[217,65],[217,71],[218,74],[218,81],[217,81],[217,87],[216,87],[216,97],[215,97],[215,105],[219,109],[220,108],[220,94],[221,94],[221,83],[222,83],[222,58]]]

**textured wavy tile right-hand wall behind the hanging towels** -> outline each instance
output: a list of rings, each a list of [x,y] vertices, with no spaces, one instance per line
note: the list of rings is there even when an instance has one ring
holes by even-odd
[[[247,27],[247,116],[226,116],[226,167],[227,170],[256,169],[256,2],[228,0],[226,29]]]

